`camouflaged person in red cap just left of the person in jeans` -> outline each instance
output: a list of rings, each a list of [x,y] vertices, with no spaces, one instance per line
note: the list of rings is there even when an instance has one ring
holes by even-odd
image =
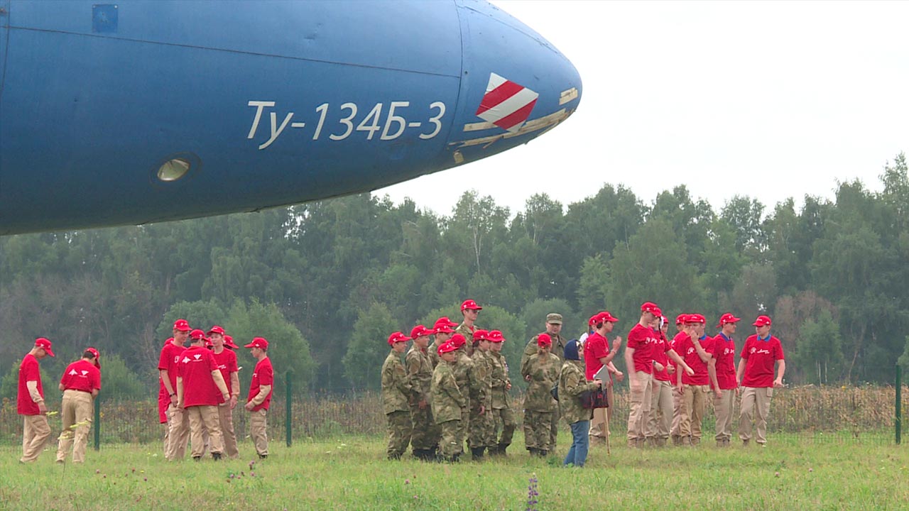
[[[536,337],[537,354],[527,359],[521,375],[529,382],[524,396],[524,446],[531,455],[547,456],[551,448],[553,409],[557,406],[552,389],[562,369],[558,356],[550,353],[552,339],[546,334]]]

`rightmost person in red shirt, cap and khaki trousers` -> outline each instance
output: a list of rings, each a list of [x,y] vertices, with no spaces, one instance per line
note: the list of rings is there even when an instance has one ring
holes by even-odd
[[[748,337],[739,355],[738,378],[742,387],[742,411],[739,416],[739,438],[748,446],[751,440],[752,419],[757,429],[756,441],[767,445],[767,416],[774,388],[783,388],[786,360],[780,340],[770,335],[773,325],[769,316],[754,320],[754,336]],[[776,378],[774,379],[774,365]]]

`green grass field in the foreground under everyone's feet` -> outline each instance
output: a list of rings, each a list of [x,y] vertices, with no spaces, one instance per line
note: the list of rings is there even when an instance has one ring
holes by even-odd
[[[50,448],[30,465],[0,447],[0,509],[905,509],[906,446],[712,445],[592,447],[584,469],[527,456],[520,436],[505,459],[456,465],[385,460],[381,438],[273,442],[239,460],[167,463],[160,446],[89,451],[57,465]],[[564,456],[570,438],[560,436]],[[617,440],[615,444],[620,444]],[[624,444],[624,442],[621,442]],[[55,449],[55,446],[54,446]],[[231,477],[233,475],[233,478]],[[535,478],[538,503],[528,506]]]

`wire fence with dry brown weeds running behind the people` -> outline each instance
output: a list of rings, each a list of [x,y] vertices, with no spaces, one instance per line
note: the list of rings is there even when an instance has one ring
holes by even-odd
[[[794,438],[814,443],[894,444],[896,442],[895,386],[799,386],[780,389],[774,393],[767,423],[770,436]],[[613,438],[626,432],[629,394],[617,391],[614,398],[610,431]],[[906,409],[909,408],[909,387],[903,386],[900,417],[901,434],[907,433]],[[523,417],[523,396],[514,396],[512,403],[516,420]],[[48,401],[51,409],[59,406]],[[57,405],[57,406],[55,406]],[[90,438],[97,428],[100,445],[104,447],[134,444],[160,444],[165,425],[158,423],[155,401],[125,401],[99,398],[99,422],[92,426]],[[737,430],[739,403],[734,410],[734,432]],[[242,406],[234,410],[234,425],[238,440],[248,435],[249,414]],[[51,417],[52,438],[60,433],[61,421]],[[704,438],[714,431],[713,406],[708,404],[704,414]],[[286,400],[275,394],[268,414],[268,436],[282,441],[286,436]],[[0,445],[22,442],[22,417],[16,415],[15,400],[5,399],[0,407]],[[383,436],[385,414],[382,398],[376,392],[323,394],[295,397],[291,401],[291,437],[295,441],[326,440],[340,436]],[[569,435],[561,425],[560,435]]]

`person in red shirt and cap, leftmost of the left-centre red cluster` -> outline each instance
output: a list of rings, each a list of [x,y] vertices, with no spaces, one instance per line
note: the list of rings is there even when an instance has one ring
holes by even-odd
[[[167,339],[158,357],[160,393],[158,403],[166,403],[165,416],[167,433],[165,434],[165,458],[169,461],[183,459],[186,455],[186,444],[189,443],[189,421],[185,419],[183,408],[176,406],[176,372],[184,344],[189,337],[189,322],[177,319],[172,330],[173,337]]]

